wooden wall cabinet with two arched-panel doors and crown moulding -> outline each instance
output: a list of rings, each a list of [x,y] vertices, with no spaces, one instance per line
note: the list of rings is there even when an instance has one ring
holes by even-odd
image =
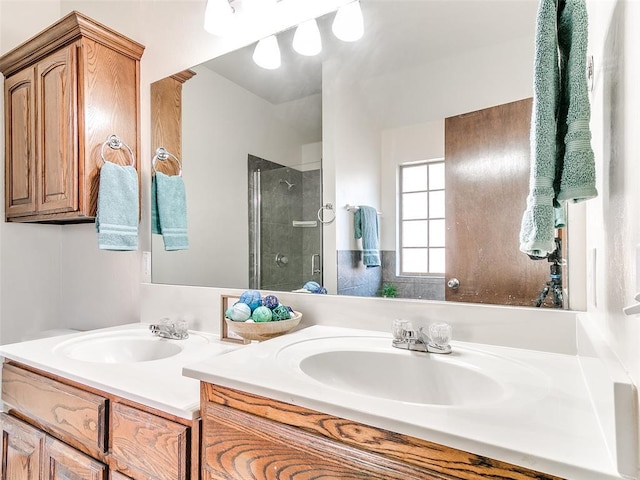
[[[140,156],[143,51],[72,12],[0,57],[7,221],[94,220],[103,143],[115,134]],[[105,156],[128,164],[124,153]]]

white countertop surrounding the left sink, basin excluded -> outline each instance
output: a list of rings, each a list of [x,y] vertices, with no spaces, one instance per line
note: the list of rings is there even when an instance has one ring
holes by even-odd
[[[123,331],[140,334],[148,331],[148,328],[147,324],[135,323],[3,345],[0,355],[180,418],[196,418],[200,410],[200,384],[197,380],[184,377],[182,367],[237,348],[236,345],[220,342],[217,335],[190,332],[186,340],[158,339],[176,343],[182,347],[182,351],[168,358],[144,362],[81,361],[69,358],[58,348],[65,342],[88,335]],[[149,335],[152,335],[151,332]]]

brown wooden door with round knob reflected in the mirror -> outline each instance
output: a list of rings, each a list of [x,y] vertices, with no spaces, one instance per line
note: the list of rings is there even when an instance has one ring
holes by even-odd
[[[518,245],[526,206],[531,104],[445,120],[447,300],[534,306],[549,279],[546,260],[505,246]]]

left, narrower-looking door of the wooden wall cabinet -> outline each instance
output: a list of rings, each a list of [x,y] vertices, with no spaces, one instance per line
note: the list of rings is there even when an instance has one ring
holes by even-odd
[[[36,210],[36,110],[33,68],[5,80],[5,212]]]

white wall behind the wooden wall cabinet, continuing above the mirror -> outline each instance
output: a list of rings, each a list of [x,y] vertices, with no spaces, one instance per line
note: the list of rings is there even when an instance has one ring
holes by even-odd
[[[205,0],[0,0],[0,53],[72,10],[146,46],[141,62],[142,222],[136,253],[100,252],[93,225],[0,224],[0,341],[54,327],[94,328],[139,318],[141,252],[149,250],[149,85],[273,31],[328,13],[345,0],[281,2],[277,16],[245,18],[231,37],[202,28]],[[252,24],[249,25],[249,22]],[[0,117],[0,131],[4,119]],[[0,149],[4,151],[4,135]],[[147,161],[144,161],[147,159]],[[4,195],[3,195],[4,198]]]

